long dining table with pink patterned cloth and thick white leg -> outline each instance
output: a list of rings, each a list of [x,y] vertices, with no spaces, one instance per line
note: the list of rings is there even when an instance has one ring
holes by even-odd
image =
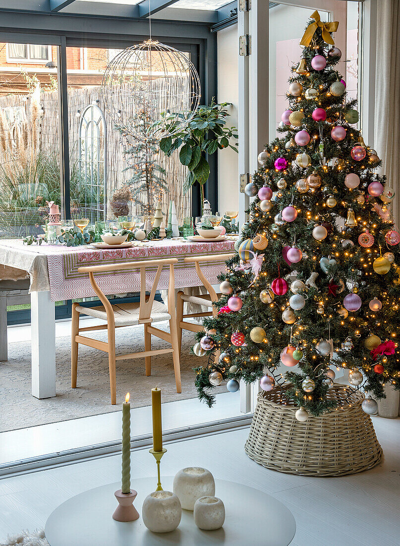
[[[0,240],[1,264],[26,271],[31,293],[32,395],[42,399],[56,396],[56,320],[55,302],[95,296],[89,276],[78,271],[81,266],[134,262],[135,260],[178,258],[175,288],[202,286],[195,265],[184,262],[187,256],[225,254],[234,248],[235,239],[191,242],[183,238],[136,241],[125,248],[94,248],[91,245],[26,245],[20,239]],[[225,262],[202,263],[202,271],[211,284],[225,269]],[[149,289],[154,275],[149,270]],[[157,285],[168,288],[169,269],[164,268]],[[115,271],[96,275],[100,289],[107,295],[140,291],[140,271]]]

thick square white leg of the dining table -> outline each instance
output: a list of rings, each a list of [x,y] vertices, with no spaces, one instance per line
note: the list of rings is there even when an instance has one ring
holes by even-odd
[[[31,293],[32,395],[56,396],[56,317],[50,292]]]

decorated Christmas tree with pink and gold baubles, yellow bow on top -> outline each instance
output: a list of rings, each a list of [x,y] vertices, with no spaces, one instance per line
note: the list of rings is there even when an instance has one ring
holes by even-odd
[[[385,383],[400,388],[394,192],[375,173],[381,162],[355,128],[356,101],[335,70],[337,23],[320,24],[311,21],[300,42],[281,136],[258,156],[245,190],[256,199],[220,276],[218,314],[204,319],[207,334],[193,348],[209,352],[208,366],[196,369],[208,405],[222,381],[233,391],[239,379],[260,379],[266,391],[290,384],[299,420],[320,416],[336,404],[327,396],[335,366],[374,398],[385,396]],[[367,413],[376,406],[363,402]]]

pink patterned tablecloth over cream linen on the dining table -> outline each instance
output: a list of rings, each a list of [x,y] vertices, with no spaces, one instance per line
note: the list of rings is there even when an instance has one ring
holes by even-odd
[[[207,254],[224,254],[233,250],[234,241],[226,240],[219,242],[192,243],[185,240],[164,240],[153,241],[144,244],[146,246],[132,246],[130,248],[116,250],[97,250],[92,247],[66,247],[53,245],[22,246],[21,241],[0,241],[0,263],[2,263],[2,248],[4,256],[13,258],[13,263],[6,265],[18,267],[19,256],[23,254],[26,263],[26,256],[32,256],[32,264],[40,262],[35,258],[44,257],[47,259],[49,271],[49,286],[52,301],[70,300],[78,298],[90,298],[95,296],[89,282],[88,274],[77,271],[81,266],[100,265],[108,263],[134,262],[137,260],[150,260],[160,258],[178,258],[175,265],[175,288],[188,288],[201,286],[195,267],[192,264],[185,264],[183,259],[187,256],[204,256]],[[25,265],[22,267],[25,269]],[[28,268],[26,268],[28,270]],[[217,275],[225,269],[225,263],[213,262],[203,263],[202,270],[211,284],[216,284]],[[32,266],[31,278],[34,278],[34,265]],[[146,282],[147,288],[153,285],[155,269],[148,270]],[[140,290],[140,271],[105,272],[96,274],[96,281],[105,294],[122,294],[126,292],[138,292]],[[169,269],[163,268],[158,284],[159,290],[168,288]],[[41,286],[46,286],[46,282]],[[34,288],[32,289],[44,289]]]

